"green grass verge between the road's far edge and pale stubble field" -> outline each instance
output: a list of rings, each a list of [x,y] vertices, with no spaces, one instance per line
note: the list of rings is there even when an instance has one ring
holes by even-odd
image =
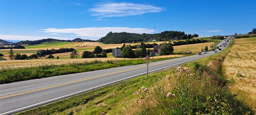
[[[185,55],[186,56],[186,55]],[[161,61],[177,57],[155,58],[154,61]],[[40,61],[40,60],[39,60]],[[154,62],[151,60],[151,62]],[[95,70],[102,70],[112,67],[120,67],[127,65],[144,64],[145,59],[118,60],[115,64],[114,60],[98,61],[84,63],[70,63],[61,65],[40,65],[37,67],[9,68],[0,70],[0,84],[16,81],[31,80],[37,78],[45,78],[57,75],[65,75],[72,73],[81,73]]]

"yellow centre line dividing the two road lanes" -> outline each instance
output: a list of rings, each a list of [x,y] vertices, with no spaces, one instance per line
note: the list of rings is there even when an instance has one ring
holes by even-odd
[[[196,56],[193,56],[193,57],[196,57]],[[187,58],[191,58],[191,57],[187,57]],[[187,59],[187,58],[183,58],[183,59]],[[168,61],[168,62],[163,62],[163,63],[158,63],[158,64],[153,64],[153,65],[149,65],[149,66],[161,65],[161,64],[164,64],[164,63],[169,63],[169,62],[178,61],[178,60],[182,60],[182,59],[176,59],[176,60],[172,60],[172,61]],[[38,88],[38,89],[34,89],[34,90],[30,90],[30,91],[25,91],[25,92],[21,92],[21,93],[16,93],[16,94],[12,94],[12,95],[1,96],[0,99],[11,97],[11,96],[17,96],[17,95],[21,95],[21,94],[26,94],[26,93],[30,93],[30,92],[40,91],[40,90],[43,90],[43,89],[54,88],[54,87],[58,87],[58,86],[62,86],[62,85],[67,85],[67,84],[71,84],[71,83],[76,83],[76,82],[79,82],[79,81],[86,81],[86,80],[90,80],[90,79],[95,79],[95,78],[99,78],[99,77],[103,77],[103,76],[107,76],[107,75],[112,75],[112,74],[116,74],[116,73],[127,72],[127,71],[131,71],[131,70],[135,70],[135,69],[140,69],[140,68],[144,68],[144,67],[146,67],[146,66],[136,67],[136,68],[133,68],[133,69],[128,69],[128,70],[124,70],[124,71],[120,71],[120,72],[114,72],[114,73],[99,75],[99,76],[95,76],[95,77],[91,77],[91,78],[86,78],[86,79],[82,79],[82,80],[77,80],[77,81],[71,81],[71,82],[62,83],[62,84],[58,84],[58,85],[53,85],[53,86],[49,86],[49,87],[45,87],[45,88]]]

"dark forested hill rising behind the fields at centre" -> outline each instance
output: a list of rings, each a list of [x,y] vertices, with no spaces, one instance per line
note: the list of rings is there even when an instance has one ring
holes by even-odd
[[[194,34],[194,37],[197,37],[197,34]],[[191,34],[185,34],[181,31],[164,31],[158,34],[155,34],[155,40],[157,41],[168,41],[172,38],[179,38],[180,40],[191,39]],[[154,38],[154,34],[135,34],[135,33],[112,33],[109,32],[106,36],[99,39],[99,42],[106,44],[117,44],[117,43],[131,43],[131,42],[140,42],[140,41],[149,41]]]

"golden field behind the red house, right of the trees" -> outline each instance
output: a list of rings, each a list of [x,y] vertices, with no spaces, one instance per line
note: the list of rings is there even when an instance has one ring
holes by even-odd
[[[189,52],[192,52],[192,53],[201,52],[202,47],[204,48],[205,46],[208,46],[208,50],[211,50],[210,46],[213,44],[214,44],[214,42],[189,44],[188,50],[189,50]],[[175,53],[186,52],[187,45],[174,46],[173,48],[174,48],[173,52],[175,52]]]

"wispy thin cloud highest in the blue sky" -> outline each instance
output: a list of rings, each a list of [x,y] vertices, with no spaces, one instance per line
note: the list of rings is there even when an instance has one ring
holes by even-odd
[[[106,3],[99,4],[95,8],[91,8],[92,16],[98,17],[121,17],[121,16],[135,16],[144,13],[153,13],[164,11],[164,8],[145,5],[145,4],[131,4],[131,3]]]

